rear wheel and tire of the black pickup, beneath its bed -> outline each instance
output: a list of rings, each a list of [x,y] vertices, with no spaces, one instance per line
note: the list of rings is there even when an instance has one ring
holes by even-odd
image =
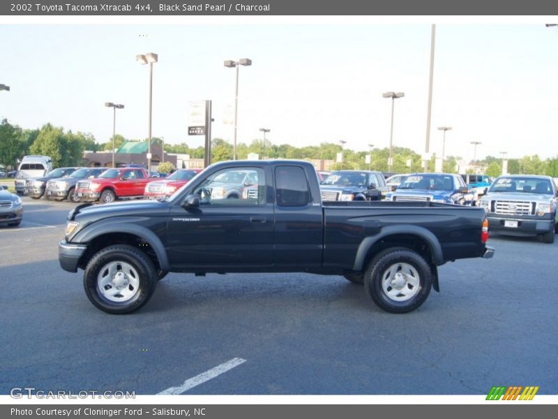
[[[388,283],[390,270],[391,284]],[[393,281],[399,281],[398,285],[392,286]],[[421,307],[428,298],[432,270],[416,251],[393,247],[370,261],[364,274],[364,288],[379,308],[390,313],[408,313]]]

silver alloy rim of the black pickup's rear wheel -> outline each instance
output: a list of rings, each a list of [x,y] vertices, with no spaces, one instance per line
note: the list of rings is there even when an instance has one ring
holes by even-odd
[[[421,277],[409,263],[395,263],[384,272],[382,288],[390,300],[407,301],[421,288]]]

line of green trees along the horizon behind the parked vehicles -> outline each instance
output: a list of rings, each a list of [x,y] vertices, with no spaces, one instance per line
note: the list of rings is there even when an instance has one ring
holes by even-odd
[[[114,145],[120,147],[126,141],[122,135],[114,136]],[[161,138],[153,137],[153,142],[161,144]],[[39,129],[24,129],[10,124],[6,119],[0,122],[0,166],[16,168],[17,161],[27,154],[40,154],[52,157],[54,167],[82,166],[84,151],[112,150],[112,140],[99,143],[91,133],[65,131],[62,127],[45,124]],[[165,152],[189,154],[192,159],[203,159],[204,147],[191,148],[186,142],[165,144]],[[335,161],[342,152],[342,163],[335,163],[333,169],[372,169],[388,171],[389,149],[372,149],[372,159],[366,163],[369,151],[355,152],[342,149],[341,145],[322,142],[319,145],[295,147],[289,144],[273,144],[269,140],[255,139],[249,144],[239,142],[236,145],[238,159],[247,159],[248,154],[255,153],[260,159],[319,159]],[[232,160],[233,146],[229,142],[214,138],[211,142],[211,161]],[[444,172],[455,173],[460,156],[447,156]],[[484,168],[486,175],[498,176],[502,173],[502,159],[487,156],[474,162],[474,166]],[[428,170],[435,170],[435,156],[428,162]],[[421,154],[404,147],[393,148],[393,172],[421,172]],[[508,172],[529,175],[549,175],[558,177],[558,156],[553,159],[540,159],[537,155],[524,156],[521,159],[508,159]]]

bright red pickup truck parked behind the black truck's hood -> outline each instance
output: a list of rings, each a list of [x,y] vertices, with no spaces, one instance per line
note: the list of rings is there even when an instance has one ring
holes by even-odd
[[[91,179],[89,188],[79,185],[77,198],[82,202],[100,200],[105,204],[119,198],[143,198],[149,181],[143,168],[108,169],[97,179]]]

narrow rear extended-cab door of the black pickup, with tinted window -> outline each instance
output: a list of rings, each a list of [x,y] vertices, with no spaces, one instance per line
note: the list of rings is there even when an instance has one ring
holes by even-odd
[[[275,168],[275,264],[294,270],[322,265],[322,202],[301,166]]]

